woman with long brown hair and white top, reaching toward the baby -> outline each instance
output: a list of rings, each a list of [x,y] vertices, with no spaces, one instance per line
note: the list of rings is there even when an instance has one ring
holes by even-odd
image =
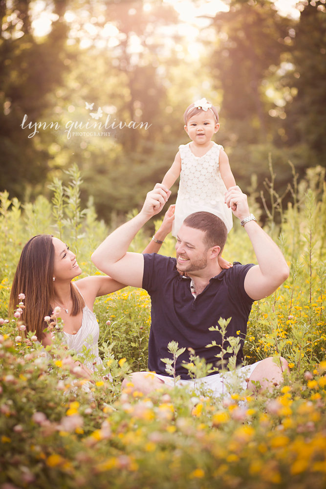
[[[166,212],[162,225],[154,234],[143,253],[157,253],[174,220],[174,205]],[[19,294],[25,294],[25,308],[21,320],[26,331],[36,332],[38,340],[47,346],[51,344],[50,333],[44,317],[60,308],[59,316],[64,323],[63,334],[70,349],[81,352],[83,347],[91,349],[94,363],[86,365],[70,360],[70,370],[80,377],[91,379],[95,365],[101,363],[98,354],[99,326],[93,311],[96,297],[107,295],[125,287],[124,284],[108,276],[91,276],[71,282],[82,273],[76,255],[58,238],[40,234],[31,238],[23,247],[15,273],[9,310],[12,312],[19,303]],[[91,344],[87,342],[92,335]],[[76,369],[79,366],[81,369]]]

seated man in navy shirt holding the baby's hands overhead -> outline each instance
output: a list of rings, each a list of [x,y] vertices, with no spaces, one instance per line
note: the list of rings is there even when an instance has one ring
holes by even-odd
[[[171,385],[171,377],[165,373],[161,358],[171,357],[167,345],[172,340],[177,341],[180,348],[191,347],[200,357],[217,361],[219,347],[205,348],[212,340],[218,340],[218,333],[210,332],[209,328],[216,326],[220,317],[231,317],[226,336],[236,336],[240,331],[242,346],[252,303],[272,294],[289,275],[283,254],[250,214],[247,197],[238,186],[226,192],[225,201],[244,226],[258,265],[236,263],[234,267],[222,270],[217,257],[226,241],[225,225],[213,214],[201,212],[189,216],[181,226],[175,245],[176,260],[156,254],[128,253],[136,233],[161,211],[170,194],[164,185],[156,184],[147,194],[141,212],[110,234],[92,255],[100,270],[126,285],[142,287],[151,295],[149,368],[155,374],[136,372],[130,376],[134,388],[144,394],[159,388],[163,382]],[[185,276],[179,272],[185,272]],[[242,351],[237,363],[241,356]],[[181,384],[189,379],[181,364],[187,359],[189,361],[186,350],[176,366]],[[281,357],[279,364],[273,358],[266,358],[244,369],[249,378],[248,388],[254,390],[253,382],[260,382],[262,389],[280,383],[288,367]],[[200,381],[216,394],[221,391],[219,374]]]

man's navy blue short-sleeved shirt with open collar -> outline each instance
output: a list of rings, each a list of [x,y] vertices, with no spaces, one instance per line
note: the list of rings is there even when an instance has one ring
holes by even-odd
[[[148,347],[148,367],[157,374],[167,375],[165,363],[161,358],[172,358],[168,343],[177,341],[179,348],[193,348],[207,363],[218,366],[220,348],[206,345],[216,341],[221,344],[221,335],[209,331],[217,326],[220,317],[232,317],[227,326],[225,337],[241,339],[241,348],[237,364],[241,364],[244,337],[247,333],[247,322],[253,300],[244,290],[244,278],[253,264],[241,265],[235,262],[232,268],[222,270],[210,279],[207,287],[196,299],[190,289],[190,278],[183,278],[176,269],[176,259],[158,255],[144,254],[143,289],[147,290],[152,300],[152,325]],[[226,354],[225,359],[230,355]],[[189,352],[178,357],[176,374],[181,379],[189,379],[188,371],[182,367],[182,361],[189,362]]]

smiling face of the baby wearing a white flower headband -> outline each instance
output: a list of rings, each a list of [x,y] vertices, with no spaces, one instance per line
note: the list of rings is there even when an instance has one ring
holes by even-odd
[[[213,112],[208,109],[207,111],[201,110],[198,114],[190,117],[184,128],[194,143],[202,145],[209,142],[213,134],[217,133],[219,124]]]

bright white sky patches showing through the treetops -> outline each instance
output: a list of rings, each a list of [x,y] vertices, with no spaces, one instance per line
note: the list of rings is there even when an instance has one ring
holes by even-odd
[[[201,16],[208,15],[214,16],[217,12],[228,11],[229,7],[222,2],[222,0],[202,0],[196,2],[196,5],[191,0],[164,0],[167,3],[171,3],[175,10],[179,14],[181,24],[187,23],[188,29],[184,31],[184,35],[187,36],[188,30],[190,36],[195,33],[189,29],[193,27],[204,27],[208,25],[209,21],[203,19]],[[278,8],[281,15],[290,15],[293,18],[300,16],[299,10],[295,8],[298,0],[276,0],[275,5]],[[150,7],[150,4],[148,4]],[[145,3],[146,8],[146,3]],[[35,0],[31,2],[32,9],[32,27],[36,36],[44,36],[51,30],[52,21],[56,20],[56,16],[50,11],[46,10],[45,2],[43,0]],[[68,19],[66,19],[68,20]],[[181,25],[180,25],[181,27]],[[181,28],[182,30],[182,28]],[[188,36],[187,36],[188,37]],[[85,45],[85,47],[87,47]]]

